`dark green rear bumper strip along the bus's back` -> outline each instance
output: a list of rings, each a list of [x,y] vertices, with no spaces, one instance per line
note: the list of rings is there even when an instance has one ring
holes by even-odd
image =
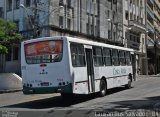
[[[24,87],[24,94],[72,93],[72,84],[59,87]]]

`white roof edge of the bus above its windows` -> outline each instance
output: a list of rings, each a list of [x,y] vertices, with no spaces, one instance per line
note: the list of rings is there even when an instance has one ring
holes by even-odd
[[[27,43],[33,43],[37,41],[44,41],[44,40],[51,40],[51,39],[52,40],[67,40],[69,42],[75,42],[75,43],[77,42],[77,43],[86,44],[86,45],[103,46],[103,47],[126,50],[126,51],[134,51],[133,49],[129,49],[125,47],[110,45],[110,44],[96,42],[92,40],[86,40],[84,38],[69,37],[69,36],[41,37],[41,38],[26,40],[26,41],[23,41],[22,43],[27,44]]]

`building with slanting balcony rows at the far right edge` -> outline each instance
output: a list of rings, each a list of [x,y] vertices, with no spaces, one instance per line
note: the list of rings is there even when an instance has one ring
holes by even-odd
[[[148,72],[160,72],[160,0],[146,2]]]

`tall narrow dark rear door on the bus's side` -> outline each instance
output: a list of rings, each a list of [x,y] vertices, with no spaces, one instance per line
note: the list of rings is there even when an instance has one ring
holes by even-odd
[[[92,49],[86,48],[85,51],[86,51],[87,74],[88,74],[88,92],[91,93],[95,92]]]

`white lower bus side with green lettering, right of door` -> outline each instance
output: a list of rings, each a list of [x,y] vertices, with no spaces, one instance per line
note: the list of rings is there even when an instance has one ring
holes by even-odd
[[[131,66],[105,66],[105,67],[95,67],[95,80],[99,82],[96,83],[96,92],[100,90],[100,79],[102,77],[106,78],[107,88],[114,88],[122,86],[128,83],[128,75],[132,74]]]

